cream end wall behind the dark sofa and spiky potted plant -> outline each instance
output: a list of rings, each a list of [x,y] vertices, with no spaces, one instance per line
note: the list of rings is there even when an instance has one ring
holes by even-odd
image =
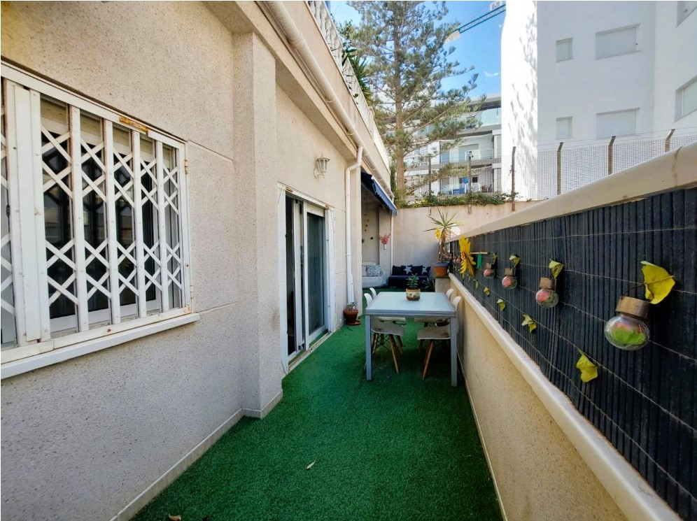
[[[533,206],[537,201],[516,203],[517,210]],[[511,213],[510,204],[489,204],[487,206],[472,205],[471,211],[467,206],[441,206],[432,208],[400,208],[395,217],[394,231],[394,262],[400,264],[421,264],[430,266],[436,261],[438,242],[434,231],[425,231],[435,227],[428,215],[438,217],[438,209],[443,213],[456,213],[460,222],[457,234],[480,227],[487,222],[495,221]],[[390,239],[391,240],[391,239]],[[386,269],[391,269],[387,266]]]

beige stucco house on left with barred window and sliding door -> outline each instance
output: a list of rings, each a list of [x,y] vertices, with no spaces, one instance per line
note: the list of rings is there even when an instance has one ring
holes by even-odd
[[[1,16],[2,518],[128,519],[360,302],[389,158],[323,2]]]

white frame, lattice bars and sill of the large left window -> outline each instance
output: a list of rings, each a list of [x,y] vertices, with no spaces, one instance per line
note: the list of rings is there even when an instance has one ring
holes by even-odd
[[[7,173],[7,180],[3,178],[3,190],[7,185],[10,206],[8,239],[11,251],[11,278],[3,280],[3,287],[7,287],[8,284],[12,287],[13,302],[9,307],[13,311],[16,331],[15,345],[5,346],[1,352],[1,377],[14,376],[198,320],[199,315],[192,312],[191,304],[185,144],[4,62],[1,64],[1,76],[5,117],[3,136],[6,138],[6,143],[3,143],[3,152],[6,152],[3,161],[6,163],[3,166],[6,167]],[[69,320],[66,320],[66,317],[51,319],[49,316],[50,290],[45,224],[43,211],[34,210],[44,208],[45,168],[42,166],[41,157],[42,96],[66,104],[70,120],[71,136],[69,140],[64,141],[65,149],[61,152],[70,158],[67,168],[70,172],[66,173],[66,179],[69,177],[71,180],[71,216],[68,218],[71,222],[71,264],[74,264],[74,278],[69,287],[73,288],[70,291],[75,299],[75,315],[67,317]],[[85,174],[80,166],[82,158],[86,157],[80,148],[80,141],[83,145],[86,142],[79,131],[82,112],[99,117],[99,124],[104,131],[106,161],[103,186],[106,194],[104,208],[107,213],[104,241],[108,241],[108,250],[103,250],[108,251],[108,254],[104,254],[108,262],[108,286],[105,284],[104,287],[107,288],[106,292],[110,293],[109,302],[118,304],[110,304],[106,310],[99,311],[87,310],[89,297],[86,289],[88,276],[85,271],[85,257],[89,255],[85,253],[87,243],[82,224],[85,211],[82,197],[82,191],[85,190]],[[114,173],[122,168],[121,164],[114,164],[115,155],[112,150],[120,150],[118,143],[111,137],[115,126],[125,129],[132,143],[133,155],[128,159],[129,168],[132,169],[132,186],[128,189],[120,185],[115,187],[118,183],[115,183]],[[139,146],[141,138],[152,141],[155,158],[149,165],[150,178],[155,187],[155,190],[150,191],[150,197],[157,199],[153,203],[157,208],[157,220],[153,222],[153,227],[159,231],[156,242],[158,247],[155,248],[153,245],[152,251],[148,252],[149,257],[143,253],[148,247],[143,242],[142,228],[139,227],[142,220],[141,208],[146,204],[146,189],[143,187],[141,190],[141,179],[146,177],[146,166],[141,161]],[[169,161],[165,149],[171,150]],[[22,175],[19,175],[20,171]],[[33,175],[25,175],[27,172]],[[134,236],[132,246],[129,245],[127,248],[116,243],[114,205],[125,196],[115,190],[127,190],[129,197],[133,199],[129,203],[132,202]],[[165,193],[166,190],[169,190],[169,193]],[[178,215],[174,221],[168,220],[165,215],[171,215],[172,212]],[[173,223],[176,223],[176,228],[172,228]],[[169,238],[165,227],[171,230]],[[3,241],[5,240],[3,237]],[[127,277],[119,273],[120,263],[125,259],[124,249],[131,250],[129,255],[135,261],[132,264],[132,272]],[[51,257],[55,257],[55,254]],[[150,275],[146,273],[145,263],[148,258],[153,259],[157,268],[155,273]],[[7,259],[3,257],[3,266],[6,262]],[[146,276],[150,278],[148,283],[145,282]],[[94,284],[91,285],[94,293]],[[136,290],[136,304],[122,306],[120,295],[128,285]],[[148,285],[155,285],[155,299],[147,299]],[[174,292],[176,297],[171,297],[170,291]],[[164,294],[167,298],[163,298]],[[3,308],[8,308],[4,299]],[[3,315],[4,317],[6,315]],[[60,331],[68,322],[72,323],[75,332]]]

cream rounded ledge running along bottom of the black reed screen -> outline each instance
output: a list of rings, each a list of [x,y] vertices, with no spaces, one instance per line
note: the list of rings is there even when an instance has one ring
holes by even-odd
[[[694,148],[697,151],[697,147]],[[455,276],[453,287],[463,295],[467,306],[476,313],[513,366],[521,373],[549,415],[576,448],[586,465],[596,475],[618,508],[630,521],[680,521],[677,513],[661,499],[640,473],[579,413],[568,397],[545,378],[540,367],[500,326],[484,306],[474,299]],[[482,443],[486,450],[486,441]],[[488,459],[488,455],[487,455]],[[491,466],[490,466],[491,468]],[[498,491],[497,491],[498,492]]]

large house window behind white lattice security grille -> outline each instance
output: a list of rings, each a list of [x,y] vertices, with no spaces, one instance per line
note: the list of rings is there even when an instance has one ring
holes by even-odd
[[[190,312],[183,143],[5,66],[1,128],[3,363]]]

